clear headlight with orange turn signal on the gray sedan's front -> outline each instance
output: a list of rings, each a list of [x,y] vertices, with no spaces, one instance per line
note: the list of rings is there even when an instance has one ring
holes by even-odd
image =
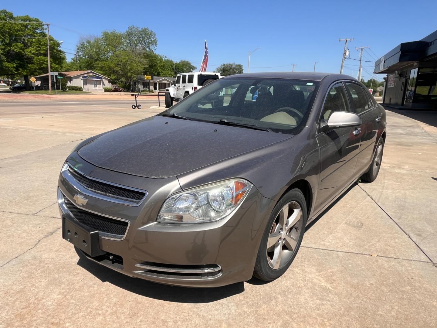
[[[180,192],[164,202],[157,221],[203,223],[223,219],[243,202],[250,188],[250,182],[235,179]]]

